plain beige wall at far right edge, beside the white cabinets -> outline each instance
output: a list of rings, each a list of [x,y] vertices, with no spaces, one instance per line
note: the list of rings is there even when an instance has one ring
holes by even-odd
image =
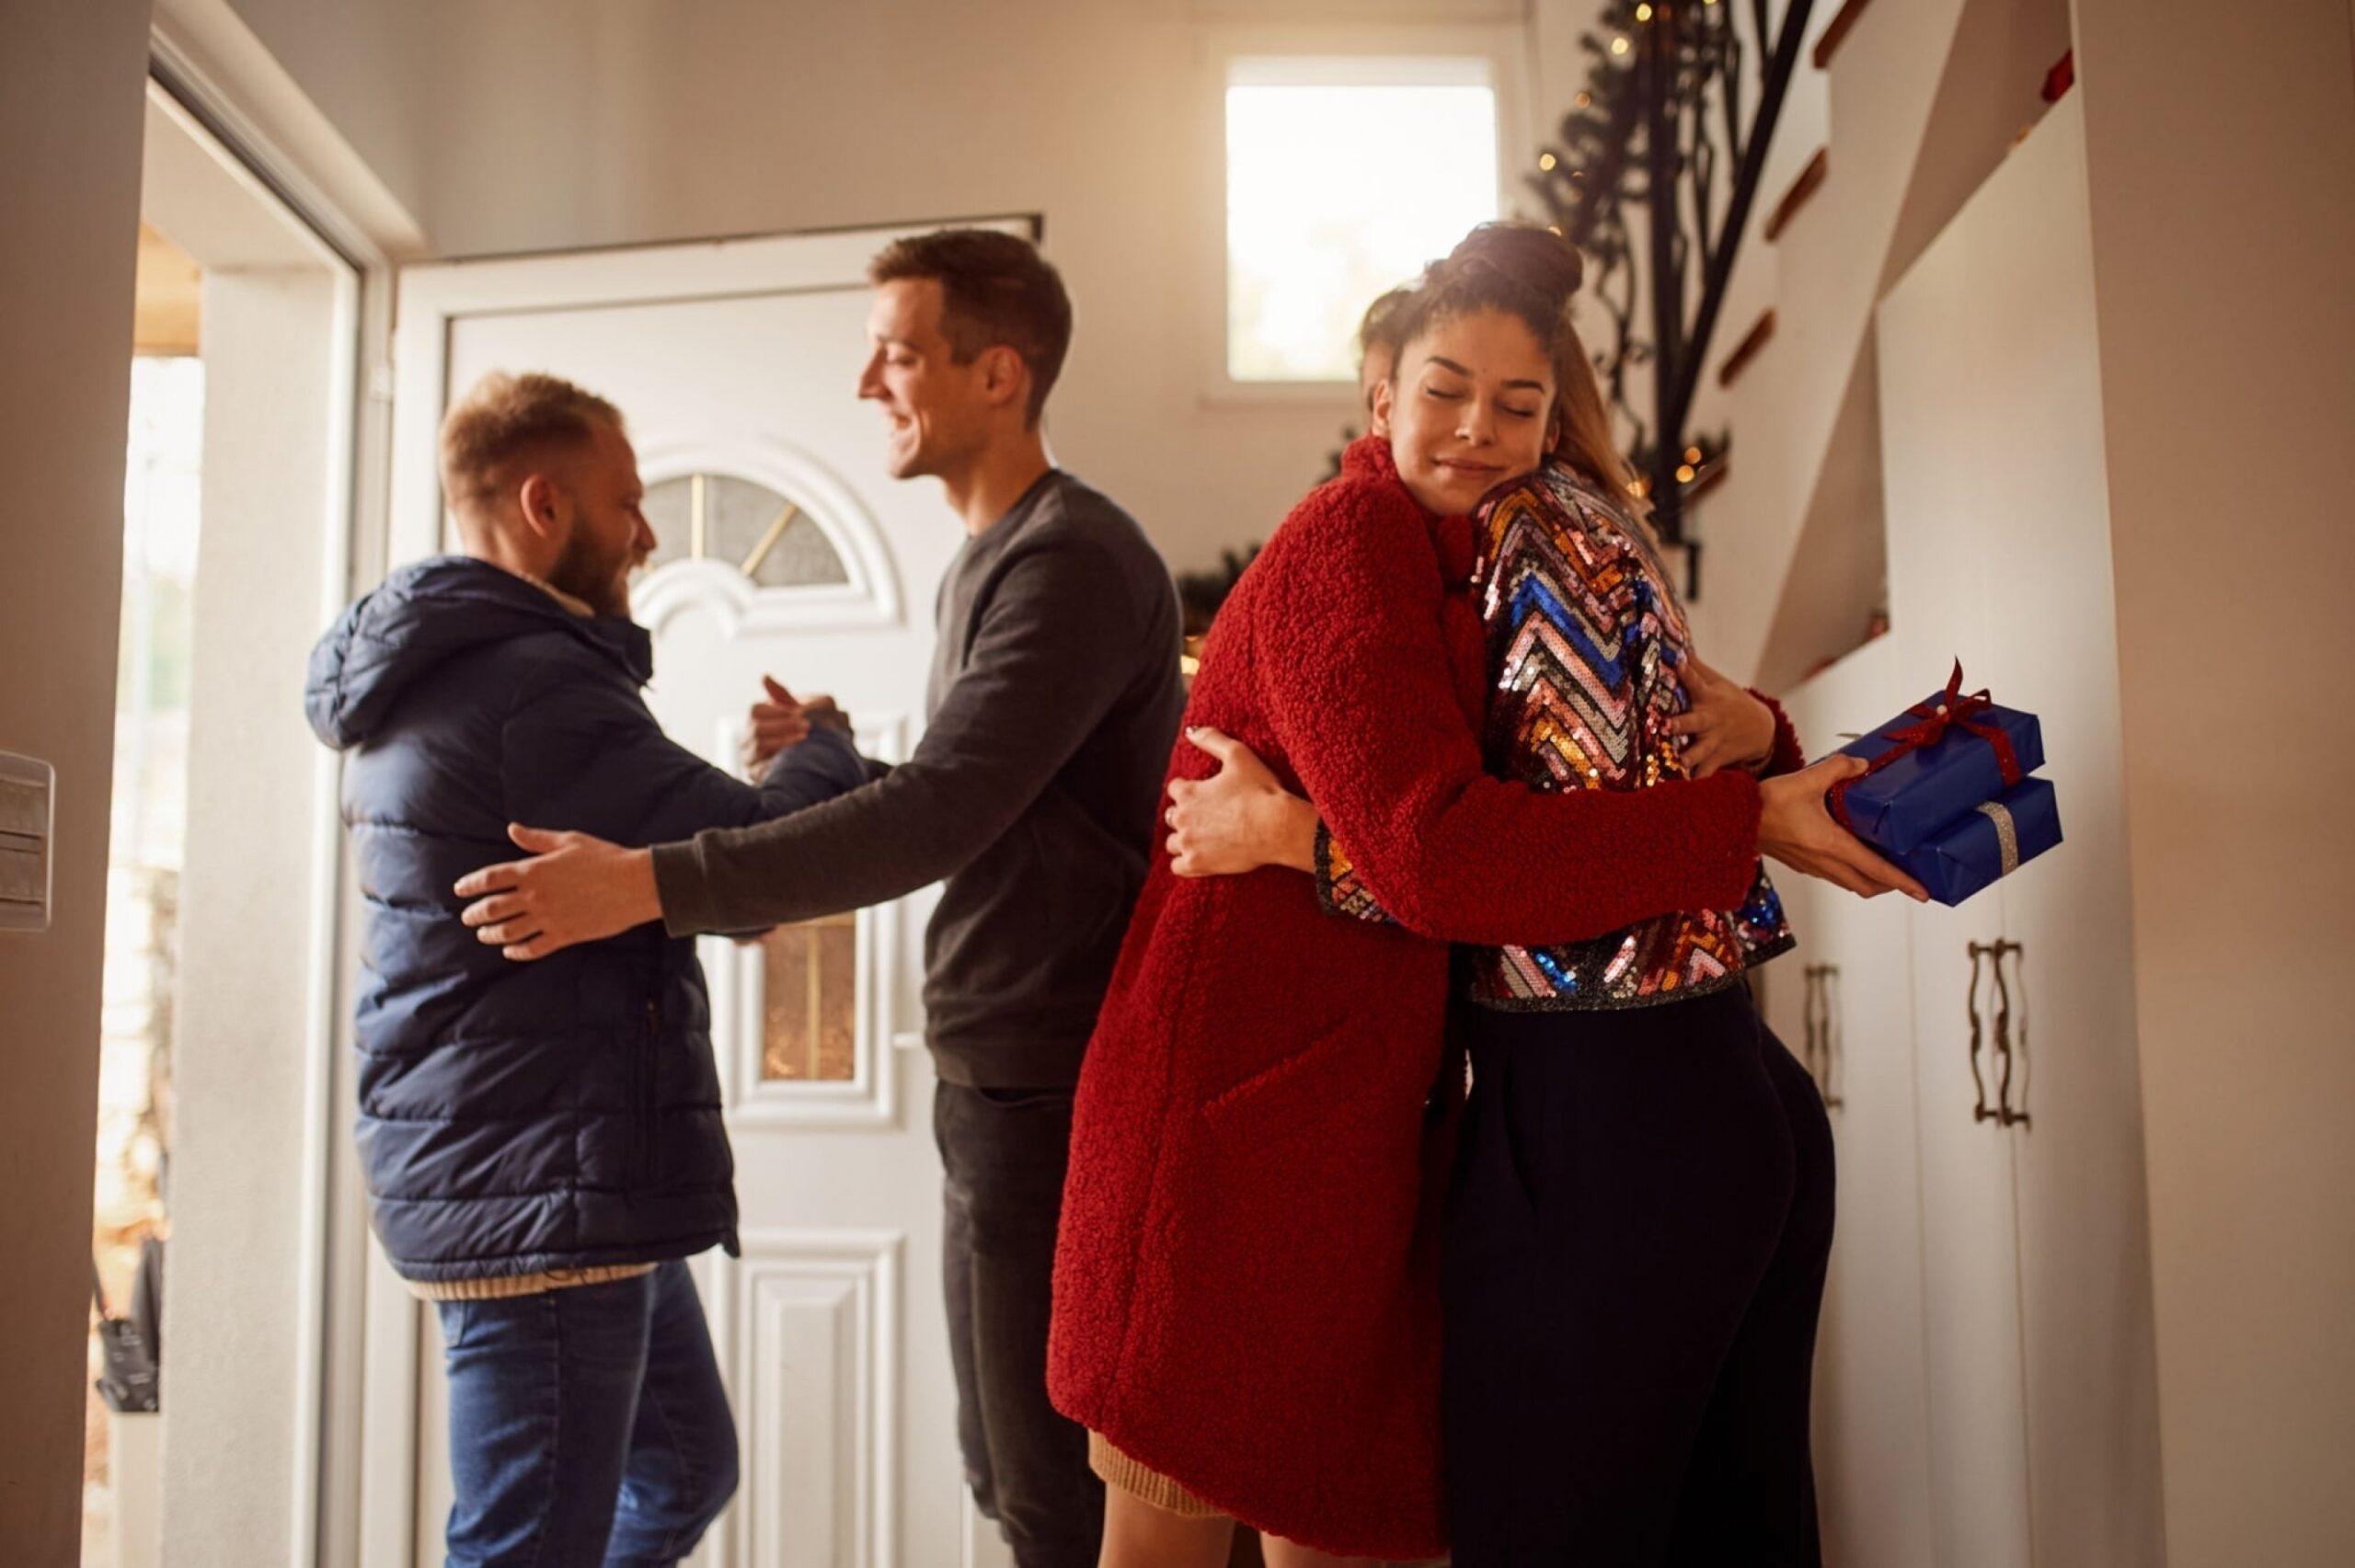
[[[2355,33],[2077,0],[2167,1544],[2355,1561]]]

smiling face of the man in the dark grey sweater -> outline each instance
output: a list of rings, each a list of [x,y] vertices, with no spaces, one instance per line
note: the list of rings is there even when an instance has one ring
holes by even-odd
[[[874,348],[860,372],[860,398],[883,407],[893,478],[958,473],[987,450],[994,412],[1006,405],[999,379],[1013,351],[984,348],[958,365],[940,313],[937,278],[878,283],[867,311]],[[1020,372],[1017,360],[1013,370]]]

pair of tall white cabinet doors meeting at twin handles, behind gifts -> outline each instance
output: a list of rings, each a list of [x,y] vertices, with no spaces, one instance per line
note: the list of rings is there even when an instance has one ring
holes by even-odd
[[[1882,304],[1879,356],[1898,640],[1922,666],[1959,652],[1969,685],[2042,718],[2068,833],[1962,911],[1915,916],[1941,1561],[2160,1563],[2079,99]],[[1966,949],[1997,939],[1999,977],[1983,954],[1973,998]],[[1981,1043],[2009,1043],[2009,1059],[1964,1078],[1973,1012]],[[1971,1121],[1981,1092],[2025,1121]]]

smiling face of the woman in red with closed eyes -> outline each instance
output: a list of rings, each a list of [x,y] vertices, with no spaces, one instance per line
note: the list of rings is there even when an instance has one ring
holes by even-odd
[[[1439,516],[1470,513],[1545,461],[1554,365],[1510,311],[1446,315],[1399,351],[1373,417],[1408,492]]]

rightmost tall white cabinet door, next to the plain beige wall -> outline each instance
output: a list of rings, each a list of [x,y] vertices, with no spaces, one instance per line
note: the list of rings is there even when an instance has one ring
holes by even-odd
[[[2004,883],[2035,1556],[2143,1568],[2164,1559],[2157,1370],[2082,97],[2011,153],[1964,238],[1978,325],[1952,396],[1999,454],[1973,680],[2039,716],[2068,836]]]

